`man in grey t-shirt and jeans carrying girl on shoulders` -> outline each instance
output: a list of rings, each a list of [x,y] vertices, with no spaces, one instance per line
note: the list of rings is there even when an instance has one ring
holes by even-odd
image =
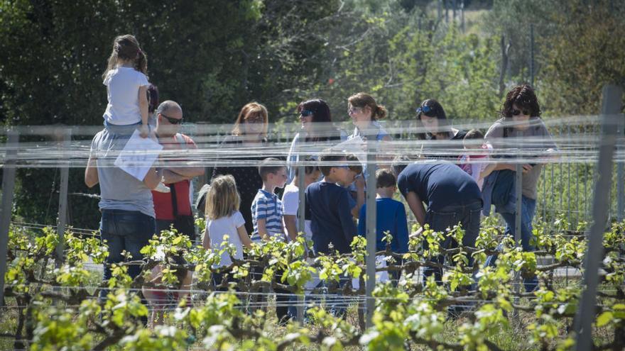
[[[141,247],[148,245],[156,229],[151,189],[161,180],[161,170],[152,167],[140,181],[114,166],[119,152],[135,130],[136,125],[107,125],[94,136],[85,169],[85,184],[89,188],[100,184],[100,234],[109,247],[104,280],[111,278],[112,263],[124,261],[122,251],[129,252],[132,260],[143,259]],[[138,264],[128,267],[133,278],[140,270]]]

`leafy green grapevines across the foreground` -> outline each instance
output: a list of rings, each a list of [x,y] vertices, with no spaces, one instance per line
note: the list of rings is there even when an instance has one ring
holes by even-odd
[[[110,345],[119,345],[123,350],[171,350],[192,345],[212,350],[284,350],[311,343],[323,350],[342,350],[349,345],[366,350],[405,350],[411,345],[438,350],[572,350],[572,317],[580,303],[582,286],[576,279],[560,282],[555,270],[581,269],[587,243],[584,235],[562,229],[566,226],[561,221],[537,225],[536,252],[522,252],[513,240],[501,238],[499,230],[491,225],[484,225],[476,247],[441,247],[446,236],[461,242],[461,228],[447,234],[426,228],[423,235],[411,238],[411,251],[404,255],[391,253],[387,246],[386,252],[379,252],[386,256],[387,267],[379,270],[401,269],[404,278],[396,286],[377,284],[376,309],[369,328],[350,323],[349,314],[343,320],[319,307],[309,310],[310,323],[276,328],[266,312],[245,313],[241,303],[246,303],[246,295],[234,291],[212,293],[219,286],[210,279],[214,272],[229,272],[244,293],[261,291],[263,287],[298,293],[312,274],[330,284],[331,292],[338,291],[332,288],[333,282],[347,277],[359,279],[361,288],[353,290],[348,283],[339,289],[342,294],[362,295],[366,246],[362,237],[354,238],[352,255],[320,255],[313,260],[301,260],[305,252],[301,237],[288,244],[271,240],[255,244],[246,260],[233,258],[229,266],[217,268],[214,264],[219,263],[221,253],[232,252],[234,246],[204,250],[193,247],[185,236],[163,232],[141,251],[146,260],[136,262],[128,257],[128,262],[113,266],[112,279],[99,284],[85,268],[89,257],[96,263],[107,257],[106,247],[97,238],[80,239],[67,233],[65,262],[57,269],[45,269],[53,264],[48,258],[58,243],[53,230],[45,230],[33,242],[27,233],[12,230],[6,296],[16,301],[18,324],[2,332],[16,335],[14,347],[31,350],[102,350]],[[584,316],[594,319],[594,342],[599,350],[625,346],[624,228],[624,223],[616,223],[604,234],[599,303],[594,316]],[[392,240],[390,235],[386,239],[388,243]],[[429,250],[423,250],[423,241],[428,242]],[[504,247],[496,266],[484,267],[487,255],[493,254],[499,243]],[[173,259],[180,254],[188,261],[184,267]],[[446,257],[443,284],[437,285],[432,279],[425,284],[417,282],[417,269],[434,267],[431,260],[439,254]],[[474,257],[474,264],[468,263],[469,257]],[[544,257],[553,257],[553,263],[540,263]],[[163,283],[148,282],[146,274],[130,279],[127,265],[136,263],[142,265],[144,273],[163,264]],[[183,268],[195,271],[192,303],[181,301],[165,316],[167,324],[146,328],[141,317],[147,316],[148,309],[141,304],[136,289],[177,289],[175,272]],[[251,269],[260,269],[262,277],[252,279]],[[276,277],[278,270],[283,271],[281,278]],[[520,277],[533,274],[538,274],[538,290],[523,293],[515,289],[514,283]],[[477,283],[474,287],[473,282]],[[98,302],[94,296],[101,288],[110,290],[107,299]],[[466,309],[457,319],[456,329],[447,335],[447,308],[459,304]],[[360,315],[357,320],[362,322],[362,306],[354,307]],[[14,312],[6,316],[14,316]],[[502,333],[520,333],[524,341],[498,345]]]

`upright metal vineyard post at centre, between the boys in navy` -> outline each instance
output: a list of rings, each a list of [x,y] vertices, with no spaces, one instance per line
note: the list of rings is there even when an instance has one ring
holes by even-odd
[[[366,328],[374,314],[376,286],[376,135],[366,138]]]

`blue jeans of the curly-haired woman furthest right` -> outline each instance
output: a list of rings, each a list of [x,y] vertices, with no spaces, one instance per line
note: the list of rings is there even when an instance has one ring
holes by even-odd
[[[506,235],[511,235],[513,238],[516,236],[516,213],[499,213],[501,217],[506,221]],[[533,238],[532,222],[536,216],[536,199],[530,199],[526,196],[521,197],[521,247],[523,251],[531,252],[536,249],[531,244]],[[497,247],[501,250],[501,247]],[[497,255],[493,255],[487,258],[486,264],[494,266],[497,260]],[[538,278],[536,276],[523,279],[523,285],[526,291],[533,291],[538,286]]]

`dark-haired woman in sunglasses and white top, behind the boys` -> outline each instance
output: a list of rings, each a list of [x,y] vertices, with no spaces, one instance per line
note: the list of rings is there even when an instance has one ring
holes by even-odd
[[[332,124],[330,106],[322,99],[303,101],[298,105],[298,116],[302,123],[300,133],[295,134],[287,157],[288,181],[295,177],[295,167],[304,150],[308,155],[316,155],[326,146],[327,142],[347,140],[347,133]],[[316,144],[316,145],[315,145]],[[306,146],[305,146],[306,145]],[[312,145],[312,149],[310,148]],[[301,155],[305,158],[307,155]]]

